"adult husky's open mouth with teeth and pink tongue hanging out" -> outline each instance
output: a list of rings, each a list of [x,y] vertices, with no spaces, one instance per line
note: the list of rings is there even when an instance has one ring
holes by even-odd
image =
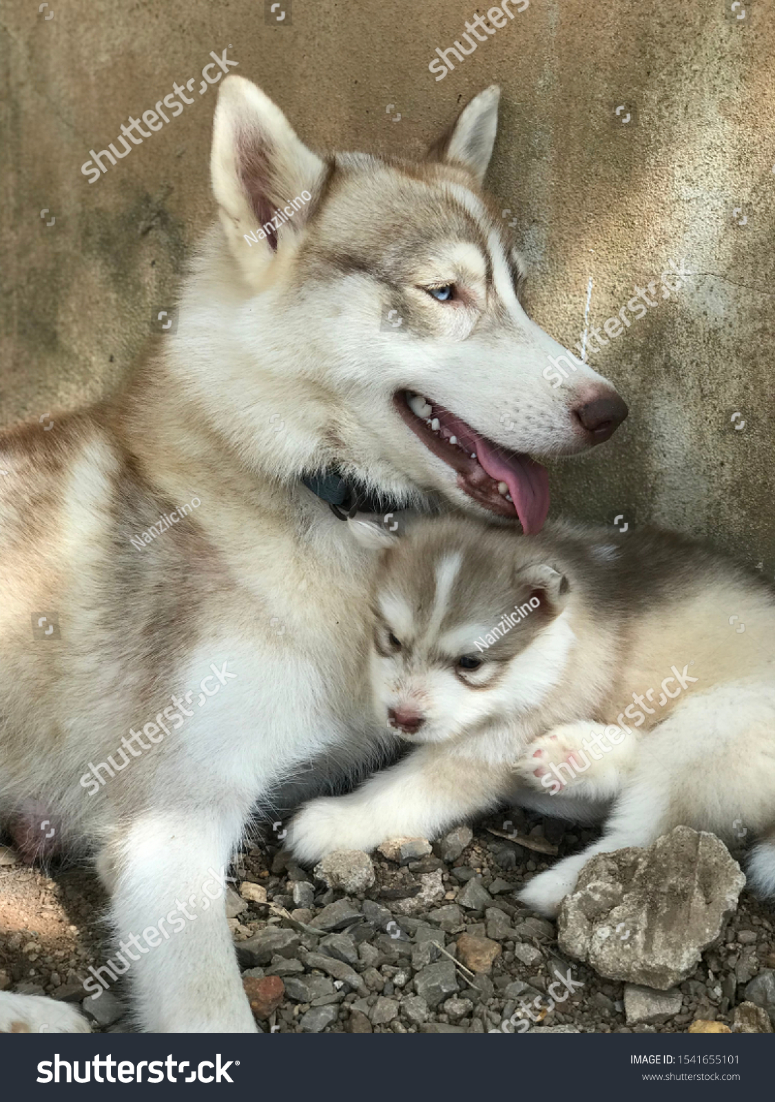
[[[539,532],[549,511],[549,475],[540,463],[509,452],[442,406],[399,390],[398,412],[426,447],[458,472],[458,485],[499,517],[518,517],[526,536]]]

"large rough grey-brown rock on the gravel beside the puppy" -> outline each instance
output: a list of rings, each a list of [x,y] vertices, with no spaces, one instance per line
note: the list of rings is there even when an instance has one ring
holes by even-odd
[[[665,991],[720,938],[744,884],[714,834],[677,827],[647,850],[592,857],[560,908],[558,943],[609,980]]]

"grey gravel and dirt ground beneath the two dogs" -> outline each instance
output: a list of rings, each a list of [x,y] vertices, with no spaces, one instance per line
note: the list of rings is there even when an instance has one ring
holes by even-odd
[[[514,829],[525,844],[503,836]],[[745,890],[720,942],[671,993],[629,987],[625,1007],[627,985],[563,959],[555,923],[531,915],[516,892],[594,836],[512,811],[473,832],[459,828],[432,850],[416,841],[370,862],[329,863],[332,886],[277,846],[255,845],[230,871],[226,906],[259,1027],[486,1033],[525,1020],[529,1006],[535,1031],[685,1033],[697,1019],[733,1028],[741,1014],[746,1031],[769,1031],[775,915]],[[82,1002],[88,965],[110,953],[105,896],[85,869],[46,875],[2,864],[11,857],[0,851],[0,988]],[[558,975],[569,981],[553,987],[560,1002],[548,994]],[[96,1029],[130,1028],[125,995],[119,981],[86,1000]]]

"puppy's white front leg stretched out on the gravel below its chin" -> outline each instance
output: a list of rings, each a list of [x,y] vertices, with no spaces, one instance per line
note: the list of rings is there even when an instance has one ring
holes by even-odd
[[[374,850],[390,838],[438,838],[445,828],[497,807],[512,782],[493,766],[422,746],[342,797],[312,800],[291,821],[288,845],[305,862],[334,850]]]

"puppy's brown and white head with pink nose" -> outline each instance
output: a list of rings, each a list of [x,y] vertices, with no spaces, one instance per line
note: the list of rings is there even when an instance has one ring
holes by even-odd
[[[439,549],[432,561],[423,541],[400,549],[380,581],[374,705],[378,720],[409,742],[440,743],[507,723],[539,705],[562,677],[573,640],[561,611],[562,576],[546,565],[515,576],[497,563],[489,576],[466,575],[475,562],[475,541]]]

